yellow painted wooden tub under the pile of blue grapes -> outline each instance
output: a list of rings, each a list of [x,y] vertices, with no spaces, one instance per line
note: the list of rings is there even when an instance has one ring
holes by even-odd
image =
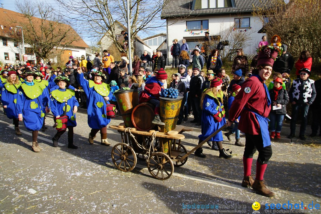
[[[176,99],[160,97],[160,120],[165,123],[161,132],[166,133],[176,128],[182,99],[183,97]]]

